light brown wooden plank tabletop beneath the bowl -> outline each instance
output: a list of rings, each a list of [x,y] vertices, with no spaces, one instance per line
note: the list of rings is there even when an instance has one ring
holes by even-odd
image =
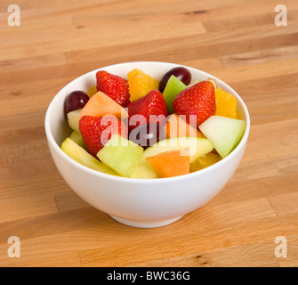
[[[297,266],[298,2],[22,0],[0,3],[0,266]],[[251,114],[245,156],[203,208],[157,229],[119,224],[69,189],[44,114],[72,79],[125,61],[169,61],[232,86]],[[9,257],[11,236],[20,257]],[[287,256],[275,256],[284,236]]]

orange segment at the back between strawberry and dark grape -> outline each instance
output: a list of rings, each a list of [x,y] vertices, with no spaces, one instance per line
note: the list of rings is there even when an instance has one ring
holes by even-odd
[[[149,92],[152,89],[158,89],[159,81],[140,69],[133,69],[127,74],[130,101],[133,102]]]

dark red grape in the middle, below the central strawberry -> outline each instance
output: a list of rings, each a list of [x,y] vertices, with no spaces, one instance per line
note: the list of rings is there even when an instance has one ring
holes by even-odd
[[[156,123],[142,124],[133,129],[129,134],[129,139],[144,149],[152,144],[165,140],[165,129]]]

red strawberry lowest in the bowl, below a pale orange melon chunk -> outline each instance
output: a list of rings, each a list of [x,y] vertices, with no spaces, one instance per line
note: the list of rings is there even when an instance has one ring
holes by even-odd
[[[84,116],[79,121],[79,130],[82,134],[87,151],[97,158],[97,152],[109,141],[112,134],[120,134],[127,138],[127,126],[116,117]]]

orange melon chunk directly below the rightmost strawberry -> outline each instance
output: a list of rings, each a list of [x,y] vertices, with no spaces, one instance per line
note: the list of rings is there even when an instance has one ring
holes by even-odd
[[[197,128],[190,126],[185,120],[173,113],[165,124],[166,138],[181,136],[205,137]]]

